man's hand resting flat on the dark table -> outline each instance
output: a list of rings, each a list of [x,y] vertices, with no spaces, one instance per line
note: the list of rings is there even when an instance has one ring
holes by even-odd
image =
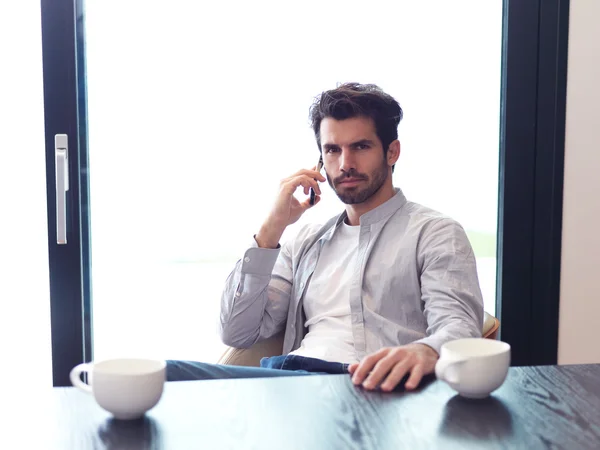
[[[351,364],[348,371],[352,382],[372,390],[380,386],[382,391],[393,390],[410,372],[406,389],[415,389],[424,375],[433,373],[439,355],[425,344],[409,344],[386,347],[375,352],[360,363]]]

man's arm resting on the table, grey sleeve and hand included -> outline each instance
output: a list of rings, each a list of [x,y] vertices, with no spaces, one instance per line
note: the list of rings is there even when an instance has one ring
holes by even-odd
[[[481,337],[483,298],[475,256],[462,227],[449,219],[433,223],[423,234],[419,249],[421,297],[427,319],[427,337],[412,344],[384,348],[352,364],[354,384],[365,389],[415,389],[424,375],[433,373],[441,346],[451,340]]]

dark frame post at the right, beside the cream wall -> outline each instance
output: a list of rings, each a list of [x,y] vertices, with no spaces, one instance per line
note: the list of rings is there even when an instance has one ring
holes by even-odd
[[[504,8],[498,272],[512,365],[556,364],[569,2]]]

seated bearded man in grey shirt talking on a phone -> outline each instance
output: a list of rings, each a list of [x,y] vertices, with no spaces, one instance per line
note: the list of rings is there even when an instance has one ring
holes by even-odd
[[[462,227],[408,202],[392,184],[400,155],[400,105],[375,85],[323,92],[312,126],[329,185],[345,211],[305,226],[280,246],[286,227],[312,207],[325,177],[300,170],[279,195],[229,276],[220,331],[238,348],[284,332],[283,355],[260,368],[169,361],[169,380],[349,372],[365,389],[414,389],[434,371],[440,347],[480,337],[483,301]]]

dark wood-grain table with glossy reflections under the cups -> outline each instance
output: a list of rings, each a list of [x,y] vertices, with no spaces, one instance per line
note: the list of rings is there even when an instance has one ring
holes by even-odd
[[[435,380],[367,392],[345,375],[167,383],[134,422],[74,388],[21,398],[4,404],[2,448],[600,449],[600,365],[511,368],[486,400]]]

